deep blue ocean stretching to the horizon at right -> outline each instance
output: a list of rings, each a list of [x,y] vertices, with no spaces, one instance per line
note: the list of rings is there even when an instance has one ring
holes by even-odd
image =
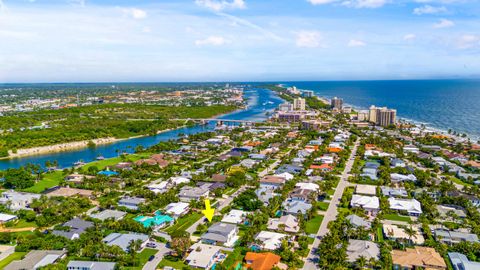
[[[480,80],[398,80],[282,82],[317,96],[343,98],[367,109],[397,109],[398,117],[427,127],[455,130],[480,138]]]

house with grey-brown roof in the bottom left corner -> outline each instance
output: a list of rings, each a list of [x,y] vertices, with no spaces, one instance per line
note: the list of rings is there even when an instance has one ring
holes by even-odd
[[[22,260],[13,261],[4,270],[38,269],[65,258],[65,250],[32,250]]]

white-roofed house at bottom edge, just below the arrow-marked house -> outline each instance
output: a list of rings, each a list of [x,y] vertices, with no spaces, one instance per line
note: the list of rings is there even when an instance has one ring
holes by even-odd
[[[219,259],[221,247],[195,243],[190,247],[190,253],[185,263],[194,269],[210,269]]]

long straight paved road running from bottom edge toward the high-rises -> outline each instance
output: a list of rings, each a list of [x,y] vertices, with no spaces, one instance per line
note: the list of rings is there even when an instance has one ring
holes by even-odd
[[[315,237],[315,240],[313,241],[313,245],[312,245],[312,248],[310,249],[310,253],[308,254],[307,258],[304,259],[305,264],[303,265],[303,268],[302,268],[304,270],[318,269],[316,265],[316,261],[318,261],[316,250],[320,245],[321,238],[325,236],[325,234],[327,234],[328,232],[328,227],[327,227],[328,223],[330,223],[330,221],[335,220],[337,217],[338,203],[342,198],[343,191],[345,190],[346,187],[351,185],[350,182],[348,182],[348,176],[349,176],[350,170],[352,169],[353,163],[355,161],[355,154],[357,153],[359,142],[360,142],[359,139],[355,142],[355,145],[352,149],[352,153],[350,154],[350,158],[348,159],[347,164],[345,165],[345,170],[343,171],[340,177],[340,182],[338,183],[335,193],[333,194],[333,197],[330,201],[330,205],[328,206],[327,212],[323,217],[322,224],[318,229],[317,237]]]

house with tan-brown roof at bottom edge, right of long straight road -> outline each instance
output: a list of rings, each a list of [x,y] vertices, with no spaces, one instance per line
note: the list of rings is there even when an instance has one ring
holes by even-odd
[[[430,247],[392,251],[393,269],[447,269],[442,255]]]

